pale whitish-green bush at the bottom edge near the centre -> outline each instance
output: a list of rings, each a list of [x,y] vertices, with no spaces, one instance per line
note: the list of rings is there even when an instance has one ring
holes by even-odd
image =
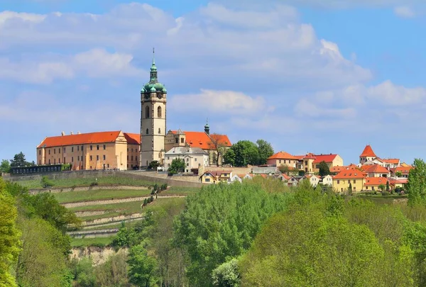
[[[217,287],[240,286],[238,259],[231,259],[217,266],[212,272],[213,285]]]

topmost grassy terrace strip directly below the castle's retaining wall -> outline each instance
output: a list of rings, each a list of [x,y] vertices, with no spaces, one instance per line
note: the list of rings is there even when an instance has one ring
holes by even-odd
[[[104,176],[98,177],[97,180],[95,177],[89,177],[85,179],[52,179],[50,180],[53,183],[53,188],[66,188],[66,187],[77,187],[77,186],[90,186],[91,184],[97,183],[99,186],[102,185],[114,185],[114,186],[153,186],[154,183],[151,181],[145,181],[143,179],[130,179],[121,176]],[[23,180],[16,181],[16,183],[21,186],[25,186],[30,189],[43,188],[41,186],[40,180]]]

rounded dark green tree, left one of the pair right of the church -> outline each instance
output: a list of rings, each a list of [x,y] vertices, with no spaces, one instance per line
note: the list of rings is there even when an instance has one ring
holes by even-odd
[[[232,150],[230,152],[229,150]],[[236,142],[226,152],[225,158],[234,159],[234,167],[246,167],[247,164],[256,165],[259,160],[258,146],[250,140],[240,140]],[[226,162],[231,164],[231,162]]]

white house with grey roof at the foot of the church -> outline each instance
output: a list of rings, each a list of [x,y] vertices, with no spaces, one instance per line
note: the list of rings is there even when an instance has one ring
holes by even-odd
[[[164,155],[165,171],[168,171],[173,159],[183,159],[185,162],[185,172],[198,172],[200,166],[209,165],[209,154],[200,147],[173,147]]]

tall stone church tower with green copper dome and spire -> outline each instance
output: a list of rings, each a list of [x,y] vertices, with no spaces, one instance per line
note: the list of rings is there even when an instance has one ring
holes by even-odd
[[[141,168],[153,160],[163,165],[166,101],[167,90],[158,82],[153,50],[150,80],[141,90]]]

